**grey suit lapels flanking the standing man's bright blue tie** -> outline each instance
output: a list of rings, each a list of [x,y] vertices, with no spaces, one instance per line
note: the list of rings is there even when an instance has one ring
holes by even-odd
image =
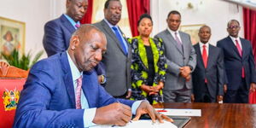
[[[114,43],[118,45],[119,49],[121,49],[121,51],[122,51],[123,54],[125,55],[125,51],[123,50],[121,44],[119,43],[119,39],[116,38],[115,33],[113,33],[112,28],[110,28],[110,27],[108,26],[108,23],[106,23],[105,20],[102,20],[101,23],[102,23],[103,29],[105,29],[105,31],[108,32],[108,35],[114,40]],[[121,29],[119,28],[119,30],[121,30]],[[120,31],[120,32],[121,32],[121,31]],[[124,33],[123,33],[123,32],[121,32],[121,33],[122,33],[122,37],[125,38],[125,37],[124,37]],[[126,44],[127,44],[126,38],[125,38],[125,41],[126,41]],[[128,46],[128,44],[127,44],[127,46]],[[128,49],[128,50],[129,50],[129,49]]]

